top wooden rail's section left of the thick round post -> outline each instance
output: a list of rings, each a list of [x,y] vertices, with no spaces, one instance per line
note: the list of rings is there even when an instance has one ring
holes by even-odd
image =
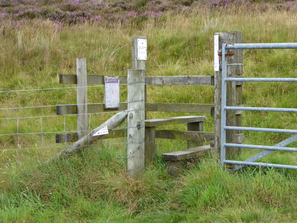
[[[76,75],[74,74],[60,74],[60,84],[76,84]],[[121,84],[127,84],[127,76],[119,76]],[[88,84],[104,84],[103,75],[87,75]]]

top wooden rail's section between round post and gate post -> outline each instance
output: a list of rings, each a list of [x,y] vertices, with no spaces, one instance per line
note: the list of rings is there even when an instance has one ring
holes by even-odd
[[[214,85],[214,76],[146,76],[147,85]]]

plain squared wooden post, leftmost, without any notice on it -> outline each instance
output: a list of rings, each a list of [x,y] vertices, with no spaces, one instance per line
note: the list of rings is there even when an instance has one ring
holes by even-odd
[[[77,139],[88,134],[87,66],[86,58],[76,58]]]

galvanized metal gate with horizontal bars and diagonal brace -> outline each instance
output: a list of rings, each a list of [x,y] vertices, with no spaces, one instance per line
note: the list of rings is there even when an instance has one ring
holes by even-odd
[[[242,111],[266,111],[266,112],[297,112],[297,109],[290,108],[261,108],[261,107],[235,107],[227,106],[227,81],[276,81],[276,82],[297,82],[297,78],[228,78],[228,56],[227,50],[229,49],[294,49],[297,48],[297,43],[238,43],[234,45],[228,45],[228,43],[222,44],[222,100],[221,100],[221,166],[225,164],[236,164],[231,170],[232,172],[240,169],[245,165],[262,166],[262,167],[277,167],[286,169],[297,169],[297,166],[283,165],[283,164],[271,164],[271,163],[259,163],[256,160],[266,156],[275,150],[279,151],[293,151],[297,152],[297,148],[284,147],[291,142],[297,140],[297,135],[294,135],[274,146],[264,145],[244,145],[236,143],[226,143],[226,130],[240,130],[240,131],[260,131],[260,132],[278,132],[278,133],[291,133],[297,134],[297,130],[290,129],[275,129],[275,128],[250,128],[250,127],[236,127],[226,126],[226,113],[227,110],[242,110]],[[264,151],[248,158],[245,161],[235,161],[226,159],[226,147],[241,147],[249,149],[262,149]]]

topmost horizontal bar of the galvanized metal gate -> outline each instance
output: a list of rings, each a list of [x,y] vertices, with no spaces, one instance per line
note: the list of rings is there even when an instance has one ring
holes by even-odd
[[[295,49],[297,43],[224,43],[226,50],[230,49]]]

